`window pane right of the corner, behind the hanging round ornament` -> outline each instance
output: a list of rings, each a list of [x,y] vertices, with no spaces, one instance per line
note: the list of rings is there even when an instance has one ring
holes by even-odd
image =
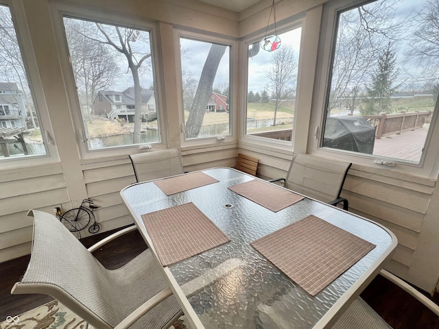
[[[281,47],[248,45],[246,134],[292,141],[300,53],[300,27],[278,34]]]

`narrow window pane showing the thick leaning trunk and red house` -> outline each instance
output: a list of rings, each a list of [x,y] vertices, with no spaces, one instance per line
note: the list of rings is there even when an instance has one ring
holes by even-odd
[[[230,45],[180,38],[186,139],[230,135],[230,111],[215,103],[217,97],[230,103],[230,51]]]

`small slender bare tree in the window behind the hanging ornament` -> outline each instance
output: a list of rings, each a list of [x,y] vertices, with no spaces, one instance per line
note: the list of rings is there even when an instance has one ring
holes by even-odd
[[[290,45],[283,45],[272,53],[270,71],[265,75],[270,80],[269,89],[274,97],[274,119],[276,125],[277,111],[283,105],[283,99],[294,97],[298,69],[298,56]]]

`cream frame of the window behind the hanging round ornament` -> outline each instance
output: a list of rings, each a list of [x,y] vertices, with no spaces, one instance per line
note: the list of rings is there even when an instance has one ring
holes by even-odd
[[[301,28],[300,34],[300,53],[298,57],[298,75],[297,75],[297,85],[296,85],[296,101],[295,108],[298,108],[298,99],[300,97],[300,75],[302,74],[301,66],[303,64],[303,56],[305,53],[305,24],[306,24],[306,12],[301,12],[300,14],[294,15],[291,18],[278,22],[276,25],[277,34],[283,34],[285,32],[292,31],[293,29]],[[260,41],[263,36],[274,34],[274,27],[270,29],[260,29],[258,32],[251,34],[250,36],[245,36],[241,40],[240,50],[240,63],[241,63],[241,98],[239,99],[240,108],[243,110],[240,112],[240,134],[239,142],[252,145],[252,147],[257,147],[260,149],[273,149],[280,153],[291,154],[294,149],[294,143],[296,140],[296,123],[297,114],[294,113],[294,123],[293,123],[293,133],[291,141],[280,141],[272,138],[265,138],[261,136],[252,136],[247,134],[247,97],[248,97],[248,46],[252,45],[254,42]]]

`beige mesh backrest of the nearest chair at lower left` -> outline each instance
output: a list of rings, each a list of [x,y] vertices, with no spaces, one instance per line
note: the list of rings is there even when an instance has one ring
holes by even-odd
[[[51,295],[93,326],[112,328],[104,315],[115,306],[104,297],[112,289],[106,269],[54,215],[29,214],[34,216],[32,254],[12,293]]]

